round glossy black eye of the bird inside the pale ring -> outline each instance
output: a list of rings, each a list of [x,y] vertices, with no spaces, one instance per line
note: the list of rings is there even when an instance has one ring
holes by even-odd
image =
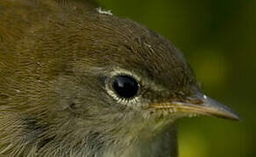
[[[136,79],[126,75],[115,77],[112,82],[112,87],[120,97],[125,99],[131,99],[139,91],[139,83]]]

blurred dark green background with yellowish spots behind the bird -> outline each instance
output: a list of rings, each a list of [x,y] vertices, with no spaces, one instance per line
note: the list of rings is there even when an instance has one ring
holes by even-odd
[[[183,51],[203,91],[231,106],[241,122],[181,119],[180,157],[256,156],[256,0],[98,0]]]

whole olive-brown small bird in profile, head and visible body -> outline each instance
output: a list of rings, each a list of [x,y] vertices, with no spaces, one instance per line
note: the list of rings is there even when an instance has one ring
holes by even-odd
[[[177,157],[175,123],[238,120],[181,51],[94,1],[0,1],[0,155]]]

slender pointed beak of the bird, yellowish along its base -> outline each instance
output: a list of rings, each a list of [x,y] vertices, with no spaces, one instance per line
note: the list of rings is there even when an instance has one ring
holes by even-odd
[[[169,110],[171,113],[185,113],[188,115],[210,115],[223,119],[239,120],[238,114],[202,93],[187,98],[183,102],[164,102],[153,104],[154,109]]]

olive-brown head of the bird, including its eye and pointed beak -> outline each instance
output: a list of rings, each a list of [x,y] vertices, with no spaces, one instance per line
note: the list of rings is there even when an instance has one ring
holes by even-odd
[[[107,135],[159,133],[194,115],[238,119],[200,91],[173,44],[144,26],[98,13],[69,27],[61,38],[72,42],[60,47],[68,57],[58,106],[75,115],[84,133],[87,126]]]

